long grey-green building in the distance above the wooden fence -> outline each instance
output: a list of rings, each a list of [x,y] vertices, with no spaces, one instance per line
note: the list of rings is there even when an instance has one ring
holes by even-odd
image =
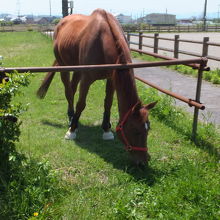
[[[152,13],[143,18],[145,23],[151,25],[176,25],[176,15]]]

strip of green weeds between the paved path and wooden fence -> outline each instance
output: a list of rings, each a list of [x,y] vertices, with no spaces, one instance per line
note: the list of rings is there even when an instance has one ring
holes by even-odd
[[[146,60],[146,61],[160,60],[160,59],[148,56],[148,55],[144,55],[144,54],[140,55],[137,52],[132,52],[132,56],[134,58],[139,58],[139,59]],[[169,66],[167,68],[170,68],[170,69],[176,70],[182,74],[190,75],[190,76],[194,76],[194,77],[197,77],[197,74],[198,74],[198,70],[195,70],[195,69],[188,67],[188,66],[185,66],[185,65],[174,65],[174,66]],[[215,69],[215,70],[211,70],[211,71],[204,71],[203,72],[203,79],[208,82],[211,82],[213,84],[220,84],[220,69]]]

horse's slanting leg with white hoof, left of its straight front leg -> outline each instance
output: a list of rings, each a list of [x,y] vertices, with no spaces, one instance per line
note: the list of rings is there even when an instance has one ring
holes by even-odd
[[[65,139],[73,140],[76,138],[76,130],[78,128],[78,121],[82,111],[86,107],[86,97],[89,91],[89,87],[91,85],[91,81],[84,79],[80,81],[80,89],[79,89],[79,100],[76,105],[76,111],[72,117],[69,130],[65,135]]]

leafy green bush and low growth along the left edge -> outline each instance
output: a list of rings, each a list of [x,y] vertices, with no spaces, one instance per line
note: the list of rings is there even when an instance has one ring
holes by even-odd
[[[58,196],[58,178],[47,162],[27,159],[18,153],[21,122],[17,117],[26,110],[13,98],[22,95],[21,87],[29,84],[29,75],[7,74],[9,81],[0,83],[0,219],[27,219],[48,212],[53,194]]]

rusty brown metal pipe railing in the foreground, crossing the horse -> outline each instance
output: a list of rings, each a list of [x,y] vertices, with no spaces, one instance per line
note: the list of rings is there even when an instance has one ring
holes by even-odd
[[[155,54],[154,56],[157,56]],[[11,73],[13,71],[17,71],[19,73],[21,72],[66,72],[66,71],[90,71],[94,69],[101,69],[101,70],[107,70],[107,69],[128,69],[128,68],[143,68],[143,67],[153,67],[153,66],[168,66],[168,65],[190,65],[196,69],[198,69],[198,81],[197,81],[197,89],[196,89],[196,99],[189,99],[185,98],[181,95],[178,95],[176,93],[170,92],[168,90],[162,89],[153,83],[150,83],[146,80],[143,80],[139,77],[135,77],[136,79],[144,82],[145,84],[150,85],[151,87],[154,87],[158,89],[159,91],[170,95],[174,98],[177,98],[183,102],[186,102],[189,104],[189,106],[194,106],[194,119],[193,119],[193,128],[192,128],[192,139],[196,139],[196,132],[197,132],[197,124],[198,124],[198,114],[199,109],[204,110],[205,106],[200,103],[200,94],[201,94],[201,85],[202,85],[202,73],[203,70],[205,70],[205,66],[207,64],[206,58],[197,58],[197,59],[188,59],[188,60],[178,60],[178,59],[172,59],[167,58],[170,60],[166,61],[159,61],[159,62],[144,62],[144,63],[128,63],[128,64],[102,64],[102,65],[83,65],[83,66],[55,66],[55,67],[16,67],[16,68],[0,68],[0,74],[5,73]]]

